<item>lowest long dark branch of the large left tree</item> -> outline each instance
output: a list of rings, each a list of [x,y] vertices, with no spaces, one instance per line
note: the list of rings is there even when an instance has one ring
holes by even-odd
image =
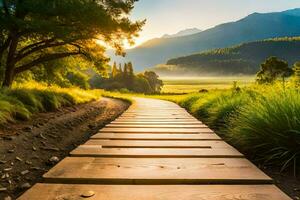
[[[48,54],[48,55],[40,57],[40,58],[38,58],[36,60],[33,60],[32,62],[30,62],[28,64],[25,64],[25,65],[22,65],[20,67],[17,67],[15,69],[15,73],[18,74],[18,73],[24,72],[24,71],[29,70],[32,67],[34,67],[36,65],[39,65],[41,63],[44,63],[44,62],[48,62],[48,61],[51,61],[51,60],[57,60],[57,59],[61,59],[61,58],[69,57],[69,56],[79,55],[79,54],[81,54],[81,51],[68,52],[68,53]]]

